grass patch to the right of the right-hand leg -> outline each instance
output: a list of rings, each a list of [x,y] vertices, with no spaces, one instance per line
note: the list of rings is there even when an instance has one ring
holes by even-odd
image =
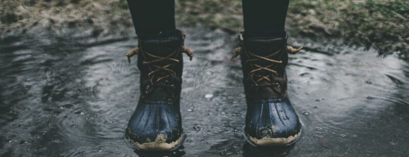
[[[290,8],[289,27],[301,35],[340,38],[349,45],[374,47],[380,55],[409,57],[409,1],[301,0]]]

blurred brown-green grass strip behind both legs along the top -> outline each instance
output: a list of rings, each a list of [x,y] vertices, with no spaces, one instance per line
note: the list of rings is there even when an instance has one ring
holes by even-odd
[[[118,31],[112,28],[119,25],[132,26],[125,0],[4,0],[0,5],[0,35],[10,28],[27,30],[38,23],[52,30],[67,23],[71,27],[88,23],[102,28],[101,34]],[[240,0],[176,0],[176,19],[182,27],[205,25],[232,33],[243,29]],[[407,30],[409,1],[291,0],[287,16],[287,31],[292,36],[340,39],[344,44],[373,47],[380,55],[395,53],[405,59],[409,57]]]

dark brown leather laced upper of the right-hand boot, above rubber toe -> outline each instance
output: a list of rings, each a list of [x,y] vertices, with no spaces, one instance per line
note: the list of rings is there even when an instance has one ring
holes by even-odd
[[[285,67],[288,63],[287,38],[240,37],[243,84],[247,99],[283,98],[287,91]]]

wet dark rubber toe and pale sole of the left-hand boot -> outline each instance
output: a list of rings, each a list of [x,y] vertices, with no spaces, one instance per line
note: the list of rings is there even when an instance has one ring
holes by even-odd
[[[180,112],[166,102],[140,102],[126,130],[129,141],[140,150],[166,151],[184,140]]]

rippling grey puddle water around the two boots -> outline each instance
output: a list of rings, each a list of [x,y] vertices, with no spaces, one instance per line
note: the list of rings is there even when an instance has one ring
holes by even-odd
[[[409,155],[407,61],[305,45],[325,51],[302,50],[287,67],[304,136],[293,146],[258,149],[242,142],[241,66],[229,60],[236,36],[199,30],[187,29],[195,52],[193,61],[185,58],[181,94],[187,140],[165,155]],[[128,64],[124,54],[135,44],[1,44],[0,156],[137,156],[124,140],[139,94],[136,58]]]

